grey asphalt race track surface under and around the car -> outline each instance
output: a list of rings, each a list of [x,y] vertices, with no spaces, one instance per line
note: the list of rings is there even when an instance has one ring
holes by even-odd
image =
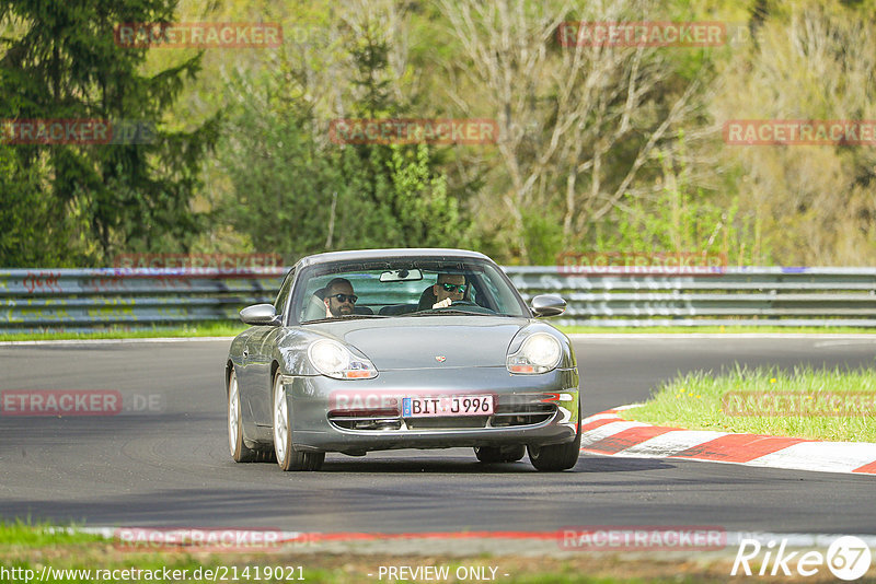
[[[876,534],[874,477],[583,455],[540,474],[468,448],[330,454],[320,472],[234,464],[226,437],[228,340],[0,347],[0,392],[107,389],[116,416],[0,417],[0,515],[89,526],[302,532],[556,530],[721,526]],[[583,338],[587,414],[645,399],[691,370],[734,362],[876,366],[876,339]],[[137,410],[137,411],[135,411]]]

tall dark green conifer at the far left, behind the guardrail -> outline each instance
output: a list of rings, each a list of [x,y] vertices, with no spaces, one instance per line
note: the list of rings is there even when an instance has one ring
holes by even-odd
[[[82,266],[106,262],[120,250],[178,252],[198,231],[192,199],[217,120],[184,131],[162,129],[161,118],[185,79],[198,72],[201,56],[145,75],[140,66],[148,49],[118,46],[113,35],[118,23],[171,22],[175,5],[176,0],[2,4],[0,22],[13,34],[1,40],[0,118],[135,120],[153,135],[150,143],[16,144],[12,174],[27,177],[22,185],[41,185],[42,202],[61,226],[19,229],[43,253],[7,247],[1,264]],[[7,220],[21,227],[33,218],[16,212]],[[59,237],[66,244],[60,258]]]

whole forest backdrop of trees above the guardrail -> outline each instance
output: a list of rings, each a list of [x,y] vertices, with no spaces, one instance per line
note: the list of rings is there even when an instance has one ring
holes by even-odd
[[[706,21],[713,47],[564,46]],[[129,48],[126,22],[278,23],[272,48]],[[731,145],[734,119],[876,119],[876,1],[0,2],[0,119],[149,120],[142,144],[0,141],[0,267],[437,246],[876,265],[876,148]],[[337,144],[337,118],[486,118],[487,144]]]

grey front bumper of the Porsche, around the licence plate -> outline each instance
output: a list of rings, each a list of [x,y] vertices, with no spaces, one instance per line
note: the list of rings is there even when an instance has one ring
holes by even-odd
[[[511,375],[503,367],[438,367],[381,371],[373,379],[281,377],[302,451],[362,454],[395,448],[448,448],[575,440],[579,396],[577,370]],[[404,418],[401,398],[494,396],[495,414]]]

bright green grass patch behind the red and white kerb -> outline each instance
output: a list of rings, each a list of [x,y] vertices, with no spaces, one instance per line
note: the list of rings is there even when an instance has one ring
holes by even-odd
[[[724,375],[680,376],[661,385],[644,406],[622,416],[688,430],[876,442],[875,411],[876,371],[872,369],[807,366],[788,373],[737,366]]]

